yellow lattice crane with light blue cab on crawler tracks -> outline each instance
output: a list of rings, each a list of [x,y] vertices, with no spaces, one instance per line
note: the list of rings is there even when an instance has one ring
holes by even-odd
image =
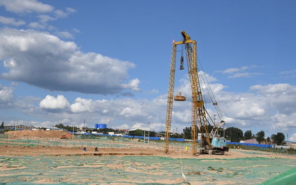
[[[204,106],[202,90],[200,86],[200,80],[198,76],[197,69],[197,44],[195,40],[191,40],[191,38],[186,34],[185,31],[181,32],[183,36],[182,41],[173,40],[173,49],[171,56],[171,66],[170,66],[170,78],[169,78],[169,88],[168,88],[168,101],[167,101],[167,111],[166,111],[166,126],[165,126],[165,144],[164,151],[167,153],[169,151],[169,140],[171,133],[171,122],[172,122],[172,111],[173,111],[173,100],[175,101],[185,101],[185,97],[181,95],[174,96],[174,84],[175,84],[175,73],[176,73],[176,53],[177,53],[177,45],[185,46],[186,52],[186,61],[187,61],[187,69],[191,86],[191,141],[192,141],[192,154],[195,155],[200,154],[217,154],[223,155],[224,151],[228,151],[228,147],[226,146],[226,139],[224,138],[224,125],[225,122],[222,120],[222,114],[218,108],[217,102],[212,102],[213,105],[218,111],[218,115],[221,118],[221,122],[217,125],[212,120],[211,116],[207,112]],[[182,49],[183,51],[183,49]],[[181,56],[181,65],[180,70],[184,69],[184,57],[183,54]],[[212,121],[214,127],[209,133],[208,124]],[[197,137],[198,130],[201,133],[201,146],[203,149],[199,149],[197,151]]]

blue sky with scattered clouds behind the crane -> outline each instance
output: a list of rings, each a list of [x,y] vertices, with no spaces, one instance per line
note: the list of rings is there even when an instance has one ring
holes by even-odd
[[[184,30],[197,42],[199,73],[226,127],[296,141],[295,7],[294,0],[0,0],[0,121],[164,131],[172,41]],[[186,101],[173,103],[177,133],[191,126],[182,55],[178,45],[174,94]]]

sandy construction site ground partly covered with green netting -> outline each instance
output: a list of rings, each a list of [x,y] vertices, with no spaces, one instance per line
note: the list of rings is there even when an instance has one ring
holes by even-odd
[[[45,140],[61,135],[28,131],[20,136],[30,137],[30,132]],[[13,138],[19,133],[5,134]],[[165,153],[163,148],[0,146],[0,185],[258,185],[288,171],[293,175],[284,177],[286,182],[295,182],[295,169],[295,154],[238,147],[224,155],[193,155],[190,150]]]

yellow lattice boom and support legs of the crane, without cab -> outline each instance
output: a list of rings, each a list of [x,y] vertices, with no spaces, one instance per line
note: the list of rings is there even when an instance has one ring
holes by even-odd
[[[197,69],[197,44],[195,40],[191,40],[190,37],[185,33],[181,32],[184,37],[183,41],[173,43],[172,56],[171,56],[171,67],[170,67],[170,79],[168,88],[168,101],[167,101],[167,112],[166,112],[166,127],[165,127],[165,145],[164,151],[169,150],[170,130],[172,121],[173,111],[173,95],[174,95],[174,83],[176,73],[176,52],[177,45],[184,44],[186,51],[186,61],[188,68],[188,75],[191,86],[191,140],[192,140],[192,154],[196,154],[196,143],[197,143],[197,128],[199,127],[202,146],[205,148],[200,153],[209,153],[210,150],[216,148],[211,145],[210,134],[208,131],[208,120],[206,118],[207,111],[204,107],[204,101],[201,93],[201,86],[198,77]],[[213,138],[213,137],[212,137]],[[220,150],[220,149],[218,149]],[[213,154],[224,154],[223,152],[214,152]]]

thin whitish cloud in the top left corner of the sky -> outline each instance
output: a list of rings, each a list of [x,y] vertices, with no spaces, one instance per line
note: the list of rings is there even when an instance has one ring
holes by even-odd
[[[7,11],[14,13],[45,13],[54,9],[53,6],[37,0],[0,0],[0,5],[4,6]]]

